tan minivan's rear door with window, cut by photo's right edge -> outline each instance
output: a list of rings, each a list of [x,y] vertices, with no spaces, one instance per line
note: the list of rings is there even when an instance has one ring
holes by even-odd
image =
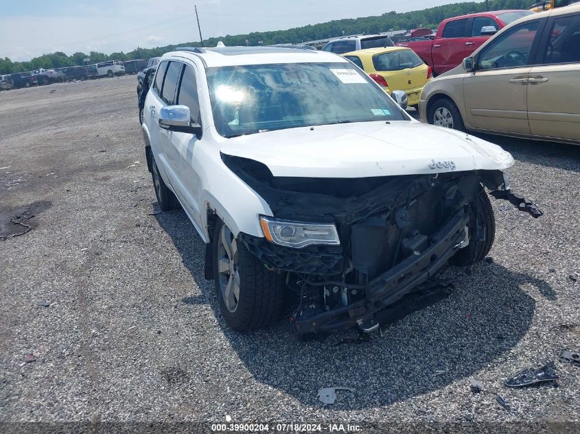
[[[531,134],[580,141],[580,14],[551,18],[530,71]]]

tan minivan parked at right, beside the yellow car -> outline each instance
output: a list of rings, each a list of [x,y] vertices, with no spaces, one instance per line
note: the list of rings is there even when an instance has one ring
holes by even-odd
[[[520,19],[426,84],[434,125],[580,144],[580,4]]]

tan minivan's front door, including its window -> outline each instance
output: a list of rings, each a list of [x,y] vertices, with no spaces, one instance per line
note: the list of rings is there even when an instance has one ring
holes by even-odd
[[[529,134],[527,80],[544,20],[512,27],[476,56],[463,79],[467,121],[473,128]]]

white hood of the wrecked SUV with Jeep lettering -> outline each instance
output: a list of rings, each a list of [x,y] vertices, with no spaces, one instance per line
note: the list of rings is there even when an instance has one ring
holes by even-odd
[[[230,138],[221,152],[268,166],[274,176],[366,178],[506,169],[498,145],[412,121],[320,125]]]

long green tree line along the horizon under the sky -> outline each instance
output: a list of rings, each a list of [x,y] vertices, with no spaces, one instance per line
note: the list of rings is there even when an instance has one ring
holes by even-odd
[[[533,0],[491,0],[489,1],[489,10],[504,9],[526,9],[533,3]],[[413,12],[387,12],[380,16],[367,16],[357,19],[343,19],[329,21],[314,25],[305,25],[287,30],[276,30],[272,32],[252,32],[242,35],[226,35],[218,38],[209,38],[203,41],[204,47],[215,47],[218,41],[225,45],[258,45],[262,41],[264,45],[284,44],[284,43],[301,43],[309,40],[320,40],[334,38],[345,34],[373,34],[388,32],[389,30],[406,30],[418,27],[427,27],[436,29],[443,19],[474,12],[483,12],[484,2],[465,2],[454,3],[450,5],[441,5],[424,10]],[[57,51],[56,53],[43,54],[26,62],[12,62],[9,58],[0,58],[0,73],[19,73],[23,71],[32,71],[34,69],[52,69],[82,65],[84,58],[90,58],[91,63],[104,62],[106,60],[134,60],[148,59],[155,56],[162,56],[167,51],[172,51],[176,47],[199,46],[199,43],[183,43],[179,45],[167,45],[165,47],[156,47],[151,49],[137,47],[128,53],[117,52],[111,54],[98,53],[73,53],[71,56]]]

